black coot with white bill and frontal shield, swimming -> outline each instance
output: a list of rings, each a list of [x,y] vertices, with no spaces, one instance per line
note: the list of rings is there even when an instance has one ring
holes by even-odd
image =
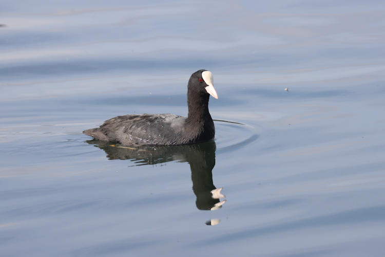
[[[102,141],[127,146],[177,145],[214,138],[215,127],[208,112],[208,98],[218,99],[213,74],[208,70],[194,72],[187,86],[188,116],[174,114],[124,115],[109,119],[100,127],[83,131]]]

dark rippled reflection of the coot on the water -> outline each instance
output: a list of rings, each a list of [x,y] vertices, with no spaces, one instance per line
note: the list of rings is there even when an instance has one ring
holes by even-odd
[[[103,149],[110,160],[131,160],[134,166],[154,165],[168,161],[188,162],[191,169],[192,191],[197,197],[196,205],[199,210],[217,210],[226,200],[222,188],[216,188],[213,183],[213,168],[215,166],[216,144],[214,140],[172,146],[141,146],[130,148],[119,144],[111,144],[100,140],[88,140]],[[207,221],[207,225],[217,225],[219,219]]]

